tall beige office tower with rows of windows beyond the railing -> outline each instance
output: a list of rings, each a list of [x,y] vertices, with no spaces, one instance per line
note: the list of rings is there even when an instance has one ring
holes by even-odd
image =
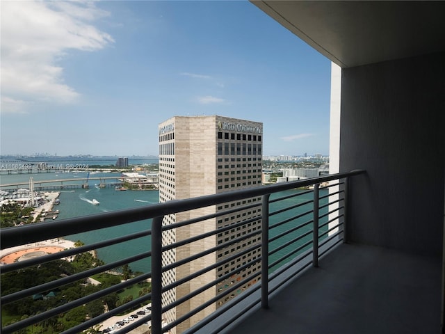
[[[221,116],[176,116],[159,125],[159,199],[161,202],[197,196],[247,189],[261,186],[262,168],[262,132],[261,122],[238,120]],[[240,208],[239,211],[209,218],[192,226],[176,228],[163,233],[163,245],[188,239],[197,234],[236,225],[248,221],[243,226],[234,226],[223,230],[213,237],[207,237],[187,246],[181,246],[166,252],[163,265],[171,264],[188,256],[230,243],[238,237],[259,231],[261,227],[261,198],[250,198],[227,202],[223,205],[213,205],[191,212],[182,212],[165,216],[164,225],[185,221],[197,216],[215,214],[225,210]],[[245,208],[243,208],[245,207]],[[237,241],[200,260],[172,269],[163,275],[163,286],[174,283],[190,273],[223,262],[228,257],[240,253],[246,247],[259,244],[260,234]],[[234,257],[230,261],[208,271],[189,283],[170,289],[163,294],[163,304],[167,305],[181,296],[185,296],[205,284],[222,278],[231,271],[243,266],[248,260],[258,259],[260,248],[249,253]],[[203,319],[220,305],[234,298],[236,294],[257,282],[260,273],[260,263],[238,272],[211,287],[191,301],[181,303],[164,315],[167,323],[180,319],[198,305],[215,299],[235,283],[248,279],[248,283],[228,296],[216,299],[211,305],[179,324],[174,333],[181,333],[197,321]]]

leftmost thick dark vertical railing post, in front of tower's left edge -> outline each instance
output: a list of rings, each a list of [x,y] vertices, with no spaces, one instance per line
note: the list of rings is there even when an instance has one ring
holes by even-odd
[[[152,221],[152,334],[162,333],[162,221]]]

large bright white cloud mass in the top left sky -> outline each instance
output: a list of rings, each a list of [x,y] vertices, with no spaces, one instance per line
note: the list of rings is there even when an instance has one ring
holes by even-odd
[[[92,2],[2,1],[2,109],[16,106],[3,111],[20,112],[19,105],[33,102],[76,100],[79,93],[64,83],[63,67],[56,62],[69,49],[95,51],[113,42],[91,24],[105,15]]]

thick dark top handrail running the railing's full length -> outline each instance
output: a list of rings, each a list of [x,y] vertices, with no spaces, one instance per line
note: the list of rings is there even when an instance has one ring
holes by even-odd
[[[31,244],[42,239],[54,239],[60,236],[58,235],[60,234],[60,230],[63,230],[65,235],[71,235],[91,230],[99,230],[101,228],[110,228],[112,226],[124,225],[133,221],[140,221],[141,217],[148,219],[156,216],[165,216],[167,214],[189,211],[200,207],[207,207],[209,205],[259,197],[268,193],[276,193],[279,191],[299,188],[301,186],[309,186],[315,183],[328,182],[330,180],[337,180],[339,178],[359,175],[362,173],[365,173],[364,170],[353,170],[348,173],[338,173],[306,180],[273,184],[252,189],[241,189],[238,191],[217,193],[214,195],[200,196],[184,200],[172,200],[156,205],[122,209],[115,212],[104,212],[90,216],[61,219],[60,221],[29,224],[17,228],[4,228],[1,231],[0,247],[1,249],[5,249],[23,244]]]

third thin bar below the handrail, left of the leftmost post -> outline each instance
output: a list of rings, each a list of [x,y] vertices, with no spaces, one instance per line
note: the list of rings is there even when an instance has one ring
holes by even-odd
[[[141,275],[141,276],[149,276],[149,274],[145,274],[145,275]],[[107,294],[111,294],[115,291],[122,289],[122,287],[128,287],[130,285],[136,284],[136,283],[140,282],[141,276],[138,276],[136,278],[131,278],[130,280],[119,283],[118,285],[113,285],[112,287],[107,287],[107,288],[99,290],[97,292],[93,292],[92,294],[88,294],[87,296],[83,296],[79,299],[76,299],[75,301],[70,301],[70,303],[66,303],[66,304],[57,306],[56,308],[51,308],[50,310],[46,310],[44,312],[38,313],[37,315],[33,315],[32,317],[26,318],[21,321],[17,321],[14,324],[11,324],[9,326],[2,328],[2,333],[12,333],[14,331],[18,331],[19,329],[36,324],[39,321],[42,321],[44,319],[49,319],[51,317],[59,315],[60,313],[66,312],[68,310],[72,310],[73,308],[76,308],[77,306],[89,303],[90,301],[94,301],[95,299],[98,299],[99,297],[106,296]]]

